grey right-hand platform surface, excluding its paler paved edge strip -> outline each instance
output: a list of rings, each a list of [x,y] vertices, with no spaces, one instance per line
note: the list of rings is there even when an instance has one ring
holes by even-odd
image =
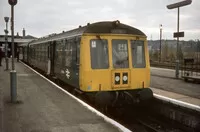
[[[200,99],[200,84],[175,78],[175,70],[151,67],[150,87]]]

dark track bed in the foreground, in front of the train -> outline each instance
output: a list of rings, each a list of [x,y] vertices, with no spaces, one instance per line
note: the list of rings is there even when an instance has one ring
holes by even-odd
[[[126,108],[123,113],[112,112],[107,115],[134,132],[192,132],[191,129],[185,129],[177,122],[160,117],[145,107]]]

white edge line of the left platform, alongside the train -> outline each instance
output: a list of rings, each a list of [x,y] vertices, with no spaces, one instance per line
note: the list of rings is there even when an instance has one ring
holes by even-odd
[[[58,89],[60,89],[61,91],[63,91],[64,93],[68,94],[69,96],[71,96],[73,99],[75,99],[76,101],[78,101],[79,103],[81,103],[83,106],[87,107],[90,111],[92,111],[93,113],[96,113],[98,116],[102,117],[105,121],[111,123],[112,125],[116,126],[117,128],[119,128],[121,131],[123,132],[132,132],[131,130],[129,130],[128,128],[124,127],[123,125],[121,125],[120,123],[116,122],[115,120],[107,117],[106,115],[102,114],[101,112],[97,111],[96,109],[94,109],[93,107],[91,107],[90,105],[88,105],[87,103],[83,102],[82,100],[76,98],[74,95],[70,94],[69,92],[65,91],[64,89],[62,89],[60,86],[58,86],[57,84],[55,84],[54,82],[50,81],[49,79],[47,79],[46,77],[44,77],[43,75],[41,75],[40,73],[38,73],[37,71],[35,71],[33,68],[29,67],[28,65],[26,65],[25,63],[23,63],[22,61],[20,61],[22,64],[24,64],[26,67],[28,67],[29,69],[31,69],[32,71],[34,71],[36,74],[38,74],[39,76],[41,76],[42,78],[44,78],[45,80],[47,80],[48,82],[50,82],[51,84],[53,84],[54,86],[56,86]]]

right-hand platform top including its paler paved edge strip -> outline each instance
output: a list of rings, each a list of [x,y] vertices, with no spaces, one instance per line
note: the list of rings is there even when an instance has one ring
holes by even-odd
[[[200,84],[174,77],[172,69],[151,67],[151,89],[154,94],[200,106]]]

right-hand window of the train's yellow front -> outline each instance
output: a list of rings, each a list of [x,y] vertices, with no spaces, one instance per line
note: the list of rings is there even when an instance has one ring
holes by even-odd
[[[134,68],[145,68],[145,50],[144,50],[144,41],[135,40],[131,41],[132,49],[132,65]]]

